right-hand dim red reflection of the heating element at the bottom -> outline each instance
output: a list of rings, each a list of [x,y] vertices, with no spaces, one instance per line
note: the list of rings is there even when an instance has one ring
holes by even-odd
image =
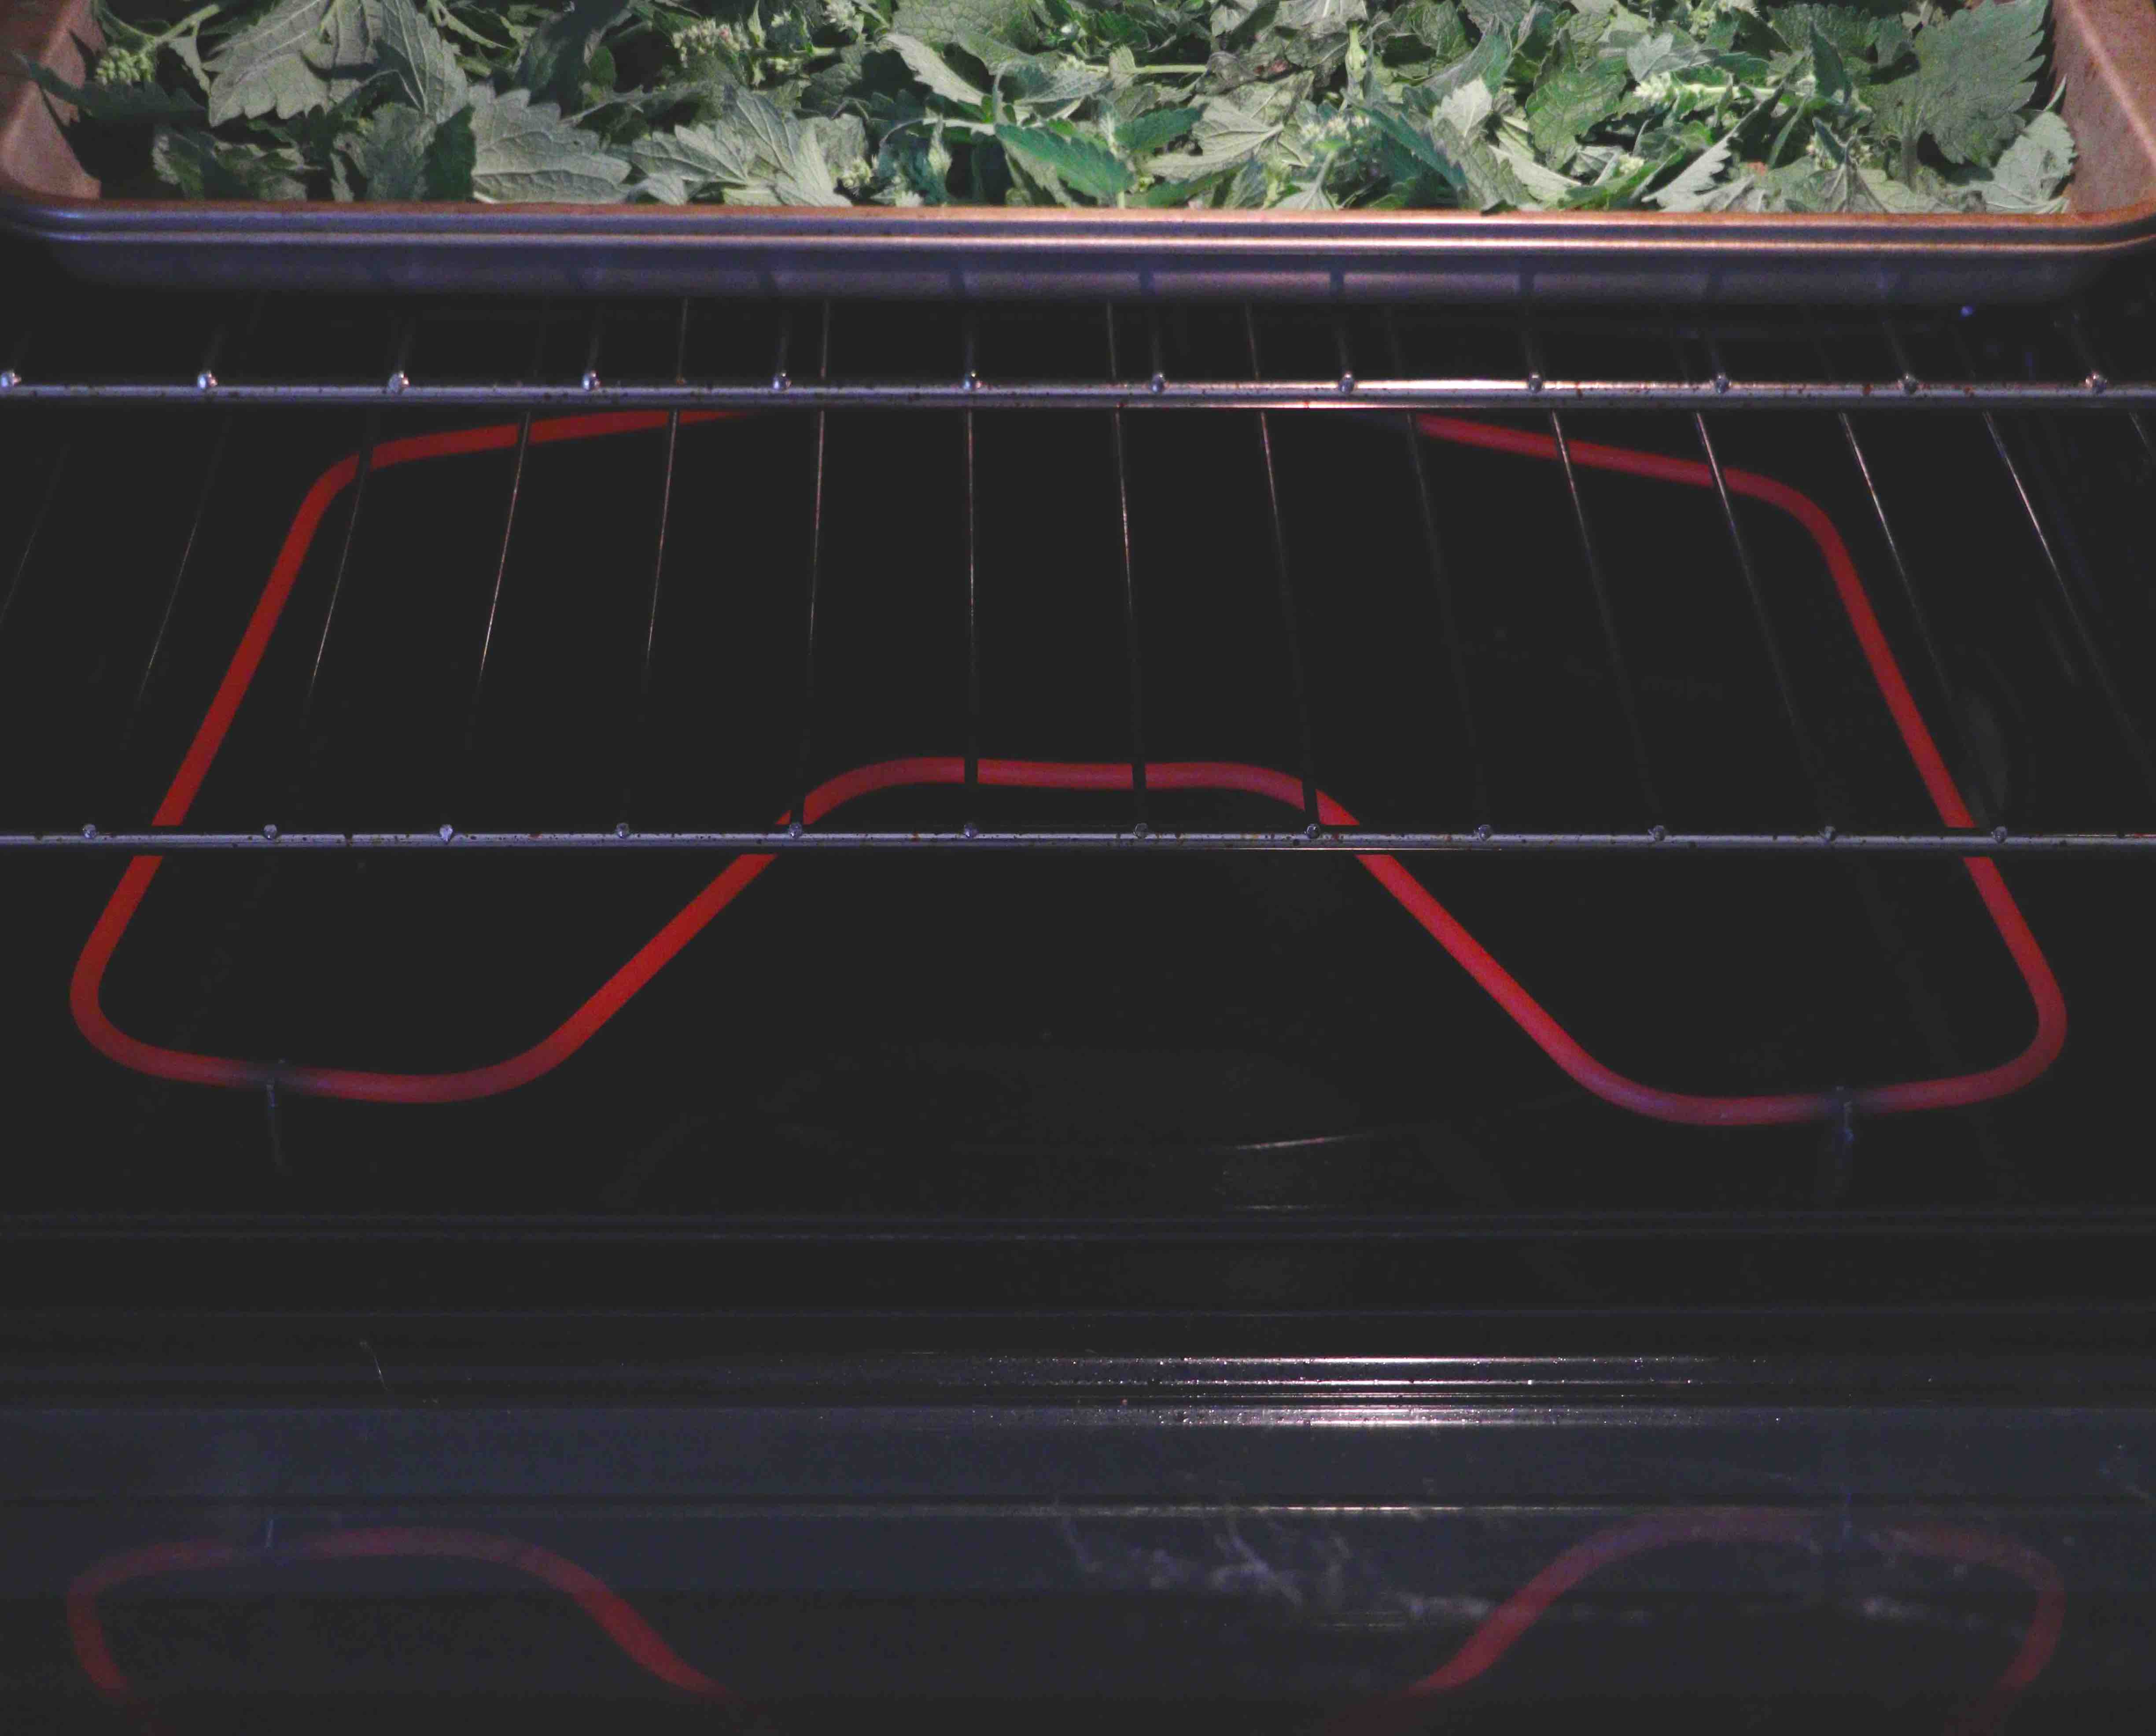
[[[1401,1689],[1391,1699],[1378,1699],[1343,1712],[1326,1725],[1326,1736],[1404,1736],[1416,1730],[1432,1714],[1436,1697],[1488,1673],[1548,1613],[1550,1604],[1583,1579],[1615,1561],[1677,1544],[1789,1544],[1794,1548],[1809,1548],[1818,1538],[1818,1514],[1774,1507],[1647,1514],[1645,1518],[1595,1531],[1595,1535],[1567,1548],[1548,1568],[1526,1581],[1526,1585],[1505,1598],[1468,1635],[1468,1643],[1453,1652],[1449,1663]],[[2044,1673],[2050,1654],[2059,1650],[2059,1632],[2065,1626],[2065,1581],[2059,1576],[2059,1568],[2048,1557],[2012,1538],[1999,1538],[1990,1531],[1968,1531],[1958,1525],[1927,1520],[1887,1525],[1871,1531],[1869,1540],[1889,1553],[1927,1555],[1938,1561],[1996,1568],[2024,1581],[2035,1592],[2035,1613],[2022,1630],[2022,1643],[2014,1661],[1975,1706],[1958,1712],[1947,1725],[1949,1736],[1990,1736],[2005,1723],[2020,1695]]]

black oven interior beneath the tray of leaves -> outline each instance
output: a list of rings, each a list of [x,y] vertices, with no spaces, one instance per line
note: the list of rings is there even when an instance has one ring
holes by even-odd
[[[248,302],[9,267],[0,1296],[37,1445],[9,1449],[0,1682],[24,1717],[112,1725],[69,1576],[207,1535],[229,1555],[99,1594],[108,1663],[170,1730],[474,1706],[1348,1730],[1598,1516],[1701,1488],[1824,1514],[1820,1538],[1839,1512],[1841,1542],[1613,1568],[1511,1678],[1399,1727],[1936,1727],[2029,1592],[1915,1531],[1871,1546],[1863,1514],[1910,1503],[2068,1563],[2018,1730],[2145,1712],[2156,929],[2122,835],[2156,815],[2156,444],[2134,388],[2072,397],[2156,377],[2141,278],[2044,313],[1526,319]],[[778,375],[884,397],[606,399]],[[893,401],[968,375],[990,408]],[[1664,390],[1464,401],[1529,375]],[[1026,386],[1149,377],[1335,397]],[[1904,380],[2072,401],[1798,390]],[[1423,382],[1423,418],[1380,382]],[[1725,408],[1677,390],[1701,382]],[[99,835],[172,824],[190,776],[205,841],[123,908],[129,852]],[[692,835],[785,832],[808,791],[806,841],[768,839],[714,904],[757,852]],[[1363,852],[1393,880],[1352,826],[1393,841]],[[1992,828],[2035,977],[1981,858],[1936,848]],[[289,848],[323,835],[358,839]],[[1697,1111],[1764,1098],[1796,1108]],[[1744,1387],[1761,1359],[1820,1384]],[[1434,1460],[1328,1464],[1313,1419],[1363,1363],[1354,1415],[1412,1400],[1416,1428],[1438,1367],[1514,1410],[1535,1367],[1714,1395],[1682,1453],[1643,1428],[1565,1471],[1544,1443],[1533,1475],[1455,1488]],[[2022,1406],[2020,1445],[1927,1479],[1977,1389]],[[1279,1466],[1149,1458],[1222,1393]],[[1777,1406],[1852,1393],[1893,1445],[1865,1460],[1843,1417],[1753,1462]],[[535,1395],[571,1419],[539,1432],[561,1475],[520,1436],[459,1447],[461,1479],[338,1484],[226,1417],[349,1417],[308,1449],[328,1466],[384,1417]],[[737,1484],[610,1479],[675,1425],[638,1406],[901,1400],[938,1419],[942,1477],[880,1482],[882,1449],[802,1423]],[[190,1473],[123,1430],[63,1475],[60,1419],[99,1404],[138,1443],[192,1419]],[[968,1423],[1005,1404],[1059,1419],[1033,1475]],[[1117,1404],[1160,1413],[1108,1471],[1078,1438]],[[1645,1413],[1591,1415],[1632,1438]],[[558,1576],[412,1544],[444,1527],[630,1587],[742,1699],[608,1650]],[[375,1542],[310,1542],[338,1533]]]

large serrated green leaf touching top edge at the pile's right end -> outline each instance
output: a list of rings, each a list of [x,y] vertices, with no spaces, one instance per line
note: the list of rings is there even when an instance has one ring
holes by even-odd
[[[1964,6],[1917,32],[1917,71],[1874,93],[1893,138],[1988,164],[2020,134],[2044,63],[2046,0]]]

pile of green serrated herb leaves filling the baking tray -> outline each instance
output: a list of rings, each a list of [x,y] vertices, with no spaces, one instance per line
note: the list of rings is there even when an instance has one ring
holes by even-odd
[[[153,4],[153,0],[151,0]],[[108,192],[2055,211],[2046,0],[99,0]]]

